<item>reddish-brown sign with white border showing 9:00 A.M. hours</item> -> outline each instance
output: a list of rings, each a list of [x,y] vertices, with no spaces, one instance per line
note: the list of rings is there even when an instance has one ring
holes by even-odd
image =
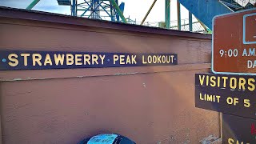
[[[214,18],[212,71],[256,74],[256,10]]]

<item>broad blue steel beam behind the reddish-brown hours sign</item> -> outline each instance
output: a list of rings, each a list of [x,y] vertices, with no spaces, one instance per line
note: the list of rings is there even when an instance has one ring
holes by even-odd
[[[215,15],[232,12],[218,0],[179,0],[195,17],[212,30],[212,19]]]

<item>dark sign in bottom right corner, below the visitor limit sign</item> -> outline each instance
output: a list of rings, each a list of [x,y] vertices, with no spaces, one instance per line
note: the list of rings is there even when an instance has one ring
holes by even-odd
[[[222,143],[256,143],[256,120],[222,114]]]

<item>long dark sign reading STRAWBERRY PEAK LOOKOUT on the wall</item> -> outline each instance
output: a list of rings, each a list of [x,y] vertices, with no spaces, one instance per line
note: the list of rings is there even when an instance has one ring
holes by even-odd
[[[0,70],[171,66],[177,54],[128,54],[67,51],[0,51]]]

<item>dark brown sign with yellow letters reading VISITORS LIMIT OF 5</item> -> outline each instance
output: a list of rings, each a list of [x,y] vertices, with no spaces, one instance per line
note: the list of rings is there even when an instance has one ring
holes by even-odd
[[[256,76],[195,74],[195,106],[256,119]]]

